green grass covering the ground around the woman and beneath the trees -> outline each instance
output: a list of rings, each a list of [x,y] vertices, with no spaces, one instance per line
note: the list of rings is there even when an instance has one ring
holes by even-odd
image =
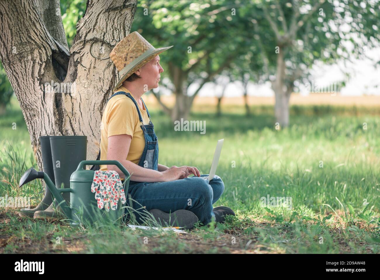
[[[291,126],[275,130],[272,111],[263,106],[252,107],[251,117],[226,106],[219,118],[214,108],[193,108],[191,119],[205,120],[206,134],[174,131],[165,114],[149,109],[161,164],[208,173],[216,142],[225,139],[217,170],[225,192],[214,206],[231,207],[236,217],[176,235],[102,223],[73,228],[0,209],[0,253],[380,252],[380,118],[373,109],[293,106]],[[0,118],[0,196],[30,195],[37,204],[40,180],[17,187],[22,173],[36,168],[22,122],[17,101]],[[262,207],[268,194],[291,197],[293,208]]]

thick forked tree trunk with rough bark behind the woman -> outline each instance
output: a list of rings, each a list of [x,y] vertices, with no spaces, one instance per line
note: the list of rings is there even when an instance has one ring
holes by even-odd
[[[51,12],[59,1],[0,2],[0,59],[40,170],[44,135],[85,135],[87,159],[96,158],[103,107],[118,78],[109,53],[129,34],[136,6],[136,0],[88,1],[68,52],[61,15]],[[49,92],[46,83],[59,89]]]

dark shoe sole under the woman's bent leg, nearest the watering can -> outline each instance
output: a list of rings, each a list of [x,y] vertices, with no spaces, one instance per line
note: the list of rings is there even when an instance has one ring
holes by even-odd
[[[149,213],[153,215],[161,226],[176,226],[184,227],[185,229],[192,229],[194,224],[198,222],[198,217],[192,211],[180,209],[169,214],[159,209],[149,210]]]

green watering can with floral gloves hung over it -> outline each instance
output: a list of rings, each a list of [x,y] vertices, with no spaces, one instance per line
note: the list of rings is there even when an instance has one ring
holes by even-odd
[[[46,186],[51,191],[54,198],[58,201],[63,213],[69,218],[72,226],[78,226],[83,221],[92,223],[100,217],[105,217],[111,221],[116,221],[124,213],[121,208],[119,199],[117,210],[109,209],[109,212],[98,208],[95,193],[91,192],[91,185],[94,177],[94,170],[85,170],[86,165],[116,165],[125,174],[124,193],[127,198],[130,174],[124,166],[117,160],[82,160],[78,168],[71,174],[70,188],[57,189],[49,176],[43,171],[36,171],[34,168],[29,168],[21,177],[19,187],[33,181],[34,179],[44,179]],[[63,199],[61,192],[70,192],[70,206]]]

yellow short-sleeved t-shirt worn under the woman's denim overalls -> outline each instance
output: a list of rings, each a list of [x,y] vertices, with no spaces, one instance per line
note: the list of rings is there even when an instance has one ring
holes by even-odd
[[[119,86],[114,93],[117,93],[118,91],[131,93],[124,86]],[[146,108],[144,107],[144,103],[142,103],[142,108],[139,104],[138,106],[144,125],[149,125],[149,117]],[[140,125],[141,122],[139,120],[136,105],[128,96],[125,94],[118,94],[109,99],[103,117],[101,118],[100,160],[107,159],[109,136],[128,134],[132,136],[132,140],[127,160],[138,164],[145,147],[144,133]],[[107,165],[100,165],[100,170],[108,170]]]

